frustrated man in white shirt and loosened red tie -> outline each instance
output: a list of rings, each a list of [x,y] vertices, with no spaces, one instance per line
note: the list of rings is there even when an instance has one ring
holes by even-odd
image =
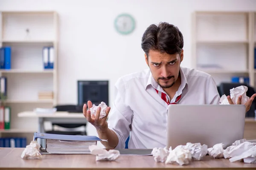
[[[183,61],[183,35],[168,23],[149,26],[142,37],[141,47],[149,69],[121,77],[115,85],[116,98],[108,117],[91,116],[84,105],[87,121],[96,127],[106,148],[165,147],[166,109],[169,104],[219,104],[215,81],[209,74],[180,67]],[[256,94],[245,104],[248,111]],[[228,96],[230,104],[233,104]],[[241,96],[237,101],[241,104]],[[186,118],[184,118],[186,119]]]

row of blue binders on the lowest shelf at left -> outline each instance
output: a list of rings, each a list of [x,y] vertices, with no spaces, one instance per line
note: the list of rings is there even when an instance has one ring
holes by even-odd
[[[26,147],[26,138],[0,138],[0,147]]]

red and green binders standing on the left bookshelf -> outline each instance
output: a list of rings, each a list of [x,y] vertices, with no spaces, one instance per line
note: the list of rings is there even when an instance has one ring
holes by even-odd
[[[10,129],[11,108],[0,106],[0,130]]]

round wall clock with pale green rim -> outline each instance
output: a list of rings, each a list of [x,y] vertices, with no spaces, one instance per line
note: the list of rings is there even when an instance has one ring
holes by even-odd
[[[134,31],[135,20],[129,14],[120,14],[116,17],[115,28],[120,34],[130,34]]]

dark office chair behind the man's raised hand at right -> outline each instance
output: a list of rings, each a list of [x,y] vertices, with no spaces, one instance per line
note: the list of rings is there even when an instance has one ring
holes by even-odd
[[[246,96],[248,97],[251,97],[253,94],[256,93],[255,89],[253,87],[250,87],[249,85],[247,85],[246,83],[221,83],[220,86],[219,86],[219,89],[220,89],[220,93],[222,95],[230,95],[230,89],[232,88],[236,88],[238,86],[241,86],[241,85],[244,85],[248,88],[248,91],[246,92]],[[256,99],[253,100],[253,103],[250,107],[250,110],[247,111],[246,113],[246,117],[255,117],[255,111],[256,110]]]

